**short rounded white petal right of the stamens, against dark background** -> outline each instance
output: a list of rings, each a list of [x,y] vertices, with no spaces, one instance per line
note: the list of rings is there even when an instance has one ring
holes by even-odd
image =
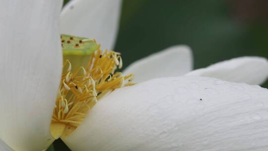
[[[184,75],[193,69],[192,58],[192,51],[188,46],[173,46],[135,61],[123,73],[133,73],[134,82]]]

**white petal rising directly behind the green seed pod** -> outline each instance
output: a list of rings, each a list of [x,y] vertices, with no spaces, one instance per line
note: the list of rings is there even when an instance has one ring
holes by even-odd
[[[113,49],[122,0],[71,0],[61,14],[61,33],[94,38]]]

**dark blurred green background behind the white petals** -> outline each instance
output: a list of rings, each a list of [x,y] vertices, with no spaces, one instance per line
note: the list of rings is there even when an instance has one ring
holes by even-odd
[[[197,69],[240,56],[268,58],[267,39],[268,0],[124,0],[115,50],[127,67],[186,44]],[[64,146],[54,143],[55,151],[68,151]]]

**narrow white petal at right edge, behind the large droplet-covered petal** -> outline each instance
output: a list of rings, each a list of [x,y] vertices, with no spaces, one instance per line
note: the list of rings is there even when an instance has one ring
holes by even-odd
[[[232,82],[262,84],[268,77],[268,61],[262,57],[240,57],[194,70],[187,75],[220,78]]]

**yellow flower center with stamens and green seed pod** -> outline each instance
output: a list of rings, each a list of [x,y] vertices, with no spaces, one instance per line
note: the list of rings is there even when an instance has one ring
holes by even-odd
[[[87,56],[89,61],[77,69],[73,69],[69,60],[64,62],[50,127],[55,139],[71,134],[101,97],[116,88],[134,84],[133,74],[123,76],[116,72],[123,65],[120,53],[102,51],[94,40],[68,35],[61,38],[64,56]]]

